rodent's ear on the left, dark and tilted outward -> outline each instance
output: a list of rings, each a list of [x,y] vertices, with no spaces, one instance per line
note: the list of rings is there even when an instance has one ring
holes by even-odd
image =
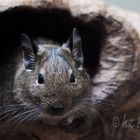
[[[30,38],[24,33],[21,34],[21,46],[24,50],[25,68],[27,70],[33,70],[35,66],[35,53]]]

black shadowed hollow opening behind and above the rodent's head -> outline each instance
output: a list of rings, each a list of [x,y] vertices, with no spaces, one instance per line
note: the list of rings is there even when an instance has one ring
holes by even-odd
[[[63,43],[77,27],[83,41],[84,65],[90,76],[94,76],[105,39],[104,19],[98,16],[91,22],[83,22],[81,17],[74,18],[65,10],[29,7],[16,7],[0,13],[0,63],[8,63],[8,59],[12,59],[12,52],[20,44],[21,33],[45,36]]]

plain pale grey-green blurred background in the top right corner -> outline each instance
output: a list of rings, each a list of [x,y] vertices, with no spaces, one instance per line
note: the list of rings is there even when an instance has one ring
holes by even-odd
[[[110,4],[118,5],[125,9],[140,12],[140,0],[105,0]]]

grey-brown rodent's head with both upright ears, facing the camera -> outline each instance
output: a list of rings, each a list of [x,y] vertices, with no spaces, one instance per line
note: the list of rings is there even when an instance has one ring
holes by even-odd
[[[64,118],[71,123],[88,113],[91,80],[83,68],[81,45],[76,29],[62,46],[35,44],[22,34],[24,55],[15,74],[15,98],[25,108],[36,108],[36,116],[46,123]]]

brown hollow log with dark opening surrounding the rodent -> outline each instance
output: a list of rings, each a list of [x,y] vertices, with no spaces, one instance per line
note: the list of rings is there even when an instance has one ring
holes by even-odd
[[[5,128],[0,140],[140,139],[139,14],[102,0],[0,0],[1,66],[12,63],[22,32],[63,43],[74,27],[93,81],[90,127],[70,133],[57,126]]]

